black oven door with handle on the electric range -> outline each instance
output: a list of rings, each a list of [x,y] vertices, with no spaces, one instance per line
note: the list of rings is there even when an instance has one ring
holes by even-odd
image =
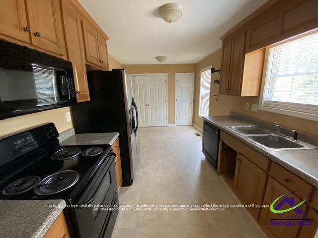
[[[72,219],[75,219],[77,226],[77,238],[99,238],[104,233],[111,211],[107,208],[112,206],[117,191],[115,157],[116,154],[111,153],[110,159],[108,157],[105,160],[78,199],[79,207],[73,209]]]

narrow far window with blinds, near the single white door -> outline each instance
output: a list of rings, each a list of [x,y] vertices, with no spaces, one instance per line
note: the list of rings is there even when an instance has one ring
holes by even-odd
[[[199,117],[209,116],[210,89],[211,89],[211,67],[201,69],[200,76],[200,101]]]

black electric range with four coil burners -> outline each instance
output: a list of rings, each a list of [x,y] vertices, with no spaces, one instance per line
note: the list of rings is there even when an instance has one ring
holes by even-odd
[[[61,147],[53,123],[0,139],[0,199],[64,199],[76,238],[111,236],[118,195],[110,145]]]

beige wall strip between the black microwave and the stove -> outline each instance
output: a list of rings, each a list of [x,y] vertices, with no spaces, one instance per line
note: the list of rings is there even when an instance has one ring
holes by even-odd
[[[67,112],[69,107],[0,120],[0,136],[47,122],[53,122],[59,132],[65,131],[73,127],[72,121],[66,121]]]

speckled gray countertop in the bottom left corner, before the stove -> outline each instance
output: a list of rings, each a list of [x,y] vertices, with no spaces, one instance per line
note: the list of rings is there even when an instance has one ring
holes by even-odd
[[[0,200],[0,237],[42,238],[65,206],[62,199]]]

